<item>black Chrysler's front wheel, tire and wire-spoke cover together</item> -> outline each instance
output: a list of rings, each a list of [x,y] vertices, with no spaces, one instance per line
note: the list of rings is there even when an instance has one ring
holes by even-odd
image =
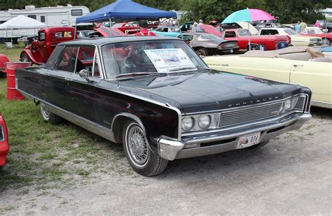
[[[127,120],[123,126],[123,149],[130,166],[139,175],[158,175],[167,166],[167,159],[150,150],[146,134],[133,120]]]

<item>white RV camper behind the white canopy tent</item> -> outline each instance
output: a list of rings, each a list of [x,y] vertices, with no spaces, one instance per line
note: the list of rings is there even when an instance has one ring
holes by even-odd
[[[25,9],[0,10],[0,24],[18,15],[27,17],[45,23],[48,27],[74,26],[76,18],[90,13],[85,6],[56,6],[36,8],[35,6],[25,6]],[[78,25],[86,25],[80,23]],[[34,36],[38,29],[8,29],[0,30],[0,38],[19,38],[21,36]]]

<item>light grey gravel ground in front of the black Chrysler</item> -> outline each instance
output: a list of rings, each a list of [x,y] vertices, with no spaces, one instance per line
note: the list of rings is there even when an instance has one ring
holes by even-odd
[[[154,178],[113,171],[43,192],[8,189],[0,194],[0,213],[332,215],[332,112],[312,114],[302,129],[261,149],[171,161]],[[125,158],[110,163],[129,167]]]

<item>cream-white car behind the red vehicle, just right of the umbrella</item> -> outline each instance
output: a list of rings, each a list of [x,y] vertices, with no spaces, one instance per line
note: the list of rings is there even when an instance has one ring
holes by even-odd
[[[293,29],[287,29],[287,28],[260,29],[258,34],[261,36],[270,36],[270,35],[289,36],[291,37],[291,45],[315,46],[323,44],[320,37],[303,36],[298,34],[298,32],[294,31]]]

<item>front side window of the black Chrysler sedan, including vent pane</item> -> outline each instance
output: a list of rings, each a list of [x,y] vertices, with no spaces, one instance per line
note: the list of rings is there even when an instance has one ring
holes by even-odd
[[[99,59],[95,46],[83,45],[78,53],[78,61],[76,71],[86,69],[89,71],[90,76],[100,78],[99,72]]]

